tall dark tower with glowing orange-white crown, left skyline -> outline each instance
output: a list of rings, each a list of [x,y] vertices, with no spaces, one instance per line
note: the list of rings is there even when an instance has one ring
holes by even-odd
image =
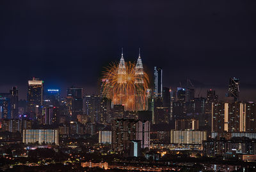
[[[33,78],[28,81],[28,113],[31,117],[38,117],[43,105],[43,81]]]

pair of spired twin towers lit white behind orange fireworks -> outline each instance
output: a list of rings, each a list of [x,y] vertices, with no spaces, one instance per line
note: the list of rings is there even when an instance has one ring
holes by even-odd
[[[116,104],[124,104],[125,110],[141,111],[147,110],[147,74],[143,71],[143,65],[140,57],[136,64],[125,64],[124,54],[118,64],[117,73],[118,92],[115,95]]]

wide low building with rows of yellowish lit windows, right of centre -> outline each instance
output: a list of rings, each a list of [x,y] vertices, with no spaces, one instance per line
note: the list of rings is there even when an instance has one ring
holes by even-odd
[[[171,130],[171,141],[170,143],[174,144],[202,144],[202,141],[207,139],[206,131],[193,131],[193,130],[185,130],[185,131],[176,131]]]

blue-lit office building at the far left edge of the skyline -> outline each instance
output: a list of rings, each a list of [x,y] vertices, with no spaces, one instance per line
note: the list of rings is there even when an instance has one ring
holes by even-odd
[[[11,118],[11,101],[9,96],[0,95],[0,118]]]

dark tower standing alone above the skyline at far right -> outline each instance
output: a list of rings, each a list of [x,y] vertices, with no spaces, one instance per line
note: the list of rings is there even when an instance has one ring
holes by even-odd
[[[230,78],[228,85],[228,97],[234,97],[234,101],[239,100],[239,79]]]

